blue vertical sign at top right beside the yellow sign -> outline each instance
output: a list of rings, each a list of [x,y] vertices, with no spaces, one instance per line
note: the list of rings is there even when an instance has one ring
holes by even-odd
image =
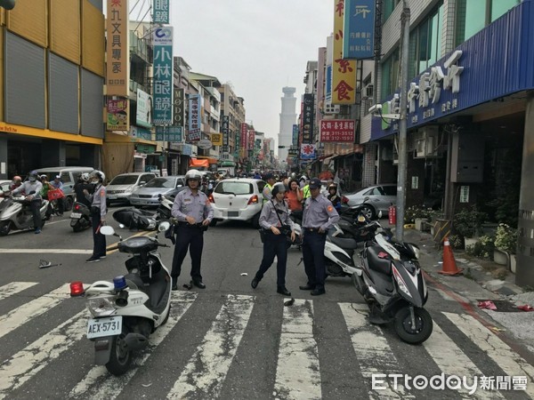
[[[374,55],[375,0],[344,0],[344,59]]]

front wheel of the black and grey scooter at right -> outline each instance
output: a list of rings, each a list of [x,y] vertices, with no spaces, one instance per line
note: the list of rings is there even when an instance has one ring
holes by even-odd
[[[401,340],[409,344],[423,343],[430,338],[433,330],[432,316],[425,308],[414,307],[414,314],[416,316],[415,329],[411,326],[409,307],[401,308],[395,314],[395,332],[397,332]]]

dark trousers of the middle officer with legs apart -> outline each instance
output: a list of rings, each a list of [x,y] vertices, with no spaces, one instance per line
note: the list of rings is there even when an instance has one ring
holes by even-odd
[[[274,235],[271,231],[265,232],[263,239],[263,259],[260,269],[256,272],[255,278],[262,280],[267,269],[271,268],[274,256],[277,258],[276,264],[276,285],[279,288],[286,287],[286,264],[287,264],[287,237],[284,235]]]

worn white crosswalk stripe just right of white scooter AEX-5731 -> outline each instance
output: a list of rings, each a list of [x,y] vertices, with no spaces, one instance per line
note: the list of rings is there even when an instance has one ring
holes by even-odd
[[[176,293],[174,295],[174,293]],[[141,354],[134,357],[132,368],[120,378],[109,374],[103,365],[94,366],[85,379],[80,381],[69,393],[69,398],[85,398],[100,400],[102,398],[111,400],[117,398],[126,385],[132,380],[139,367],[152,355],[152,352],[172,331],[174,325],[180,321],[182,316],[197,299],[197,292],[173,292],[171,299],[171,315],[165,325],[158,327],[154,334],[150,335],[148,348]],[[88,342],[89,343],[89,342]]]

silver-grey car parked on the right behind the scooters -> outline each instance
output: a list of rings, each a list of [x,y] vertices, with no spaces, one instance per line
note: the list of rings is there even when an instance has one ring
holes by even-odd
[[[349,206],[365,203],[366,214],[368,218],[373,219],[379,211],[384,216],[387,215],[389,206],[397,203],[397,185],[386,183],[370,186],[354,193],[344,193],[344,196],[348,199]]]

